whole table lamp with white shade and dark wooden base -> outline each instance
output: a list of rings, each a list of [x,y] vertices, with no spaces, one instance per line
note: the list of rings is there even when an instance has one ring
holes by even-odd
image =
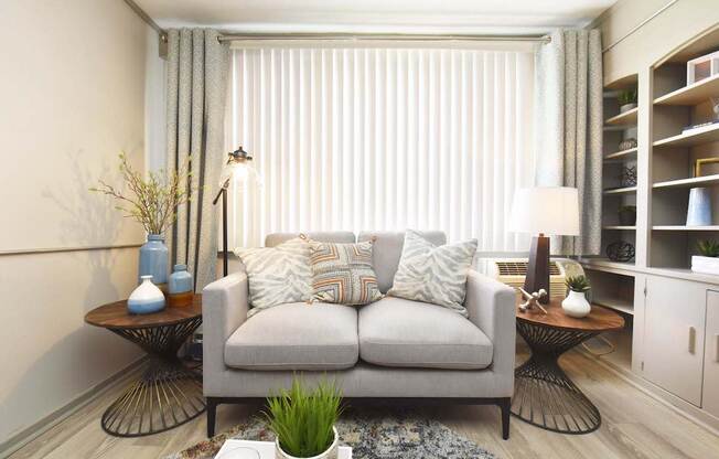
[[[523,188],[514,193],[509,231],[535,234],[524,289],[547,290],[539,302],[549,302],[549,237],[579,235],[579,193],[576,188]]]

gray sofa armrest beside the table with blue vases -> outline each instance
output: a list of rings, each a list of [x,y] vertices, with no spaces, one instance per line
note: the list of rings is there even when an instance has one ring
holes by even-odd
[[[202,290],[203,375],[224,371],[225,343],[247,319],[247,274],[242,270],[215,280]]]

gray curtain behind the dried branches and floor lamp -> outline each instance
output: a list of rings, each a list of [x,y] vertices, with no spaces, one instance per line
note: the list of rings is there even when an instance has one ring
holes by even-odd
[[[178,209],[168,234],[173,263],[185,264],[195,289],[215,280],[217,209],[212,205],[225,159],[224,115],[229,51],[218,33],[205,29],[168,32],[168,157],[169,171],[192,159],[195,190]]]

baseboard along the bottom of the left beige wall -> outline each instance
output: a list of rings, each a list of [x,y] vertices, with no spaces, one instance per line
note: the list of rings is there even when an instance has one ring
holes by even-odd
[[[28,445],[30,441],[34,440],[42,434],[46,433],[51,428],[55,427],[57,424],[65,420],[71,415],[77,413],[81,408],[88,405],[94,399],[98,398],[100,395],[105,394],[110,388],[126,382],[131,377],[137,377],[137,373],[140,370],[140,366],[147,361],[147,356],[136,360],[130,363],[119,372],[115,373],[107,380],[94,385],[87,391],[83,392],[69,403],[54,410],[50,415],[40,419],[32,426],[25,427],[18,434],[10,437],[8,440],[0,444],[0,459],[4,459],[18,451],[23,446]]]

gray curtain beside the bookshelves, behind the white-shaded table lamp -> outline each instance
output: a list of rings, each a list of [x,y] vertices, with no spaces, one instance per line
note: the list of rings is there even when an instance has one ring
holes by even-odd
[[[580,235],[552,253],[597,255],[602,223],[602,51],[598,30],[557,31],[535,54],[537,185],[579,190]]]

